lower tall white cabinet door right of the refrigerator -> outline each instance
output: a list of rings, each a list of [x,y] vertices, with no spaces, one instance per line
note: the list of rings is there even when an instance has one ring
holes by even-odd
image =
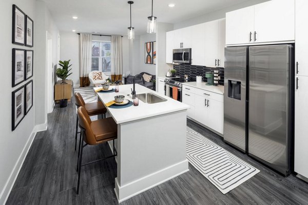
[[[294,171],[308,178],[308,76],[296,76],[295,80],[298,88],[295,88]]]

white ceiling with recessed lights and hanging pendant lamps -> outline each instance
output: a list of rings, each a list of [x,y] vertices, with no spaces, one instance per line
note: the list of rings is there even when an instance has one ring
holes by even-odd
[[[129,27],[129,4],[125,0],[44,0],[60,31],[98,32],[125,35]],[[153,15],[159,22],[177,23],[248,0],[154,0]],[[169,8],[168,4],[176,6]],[[135,0],[131,5],[132,27],[136,35],[146,33],[151,0]],[[78,16],[73,19],[72,16]]]

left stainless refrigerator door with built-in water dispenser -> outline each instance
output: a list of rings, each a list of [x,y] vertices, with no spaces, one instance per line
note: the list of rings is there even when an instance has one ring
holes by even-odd
[[[246,151],[247,47],[225,48],[224,141]]]

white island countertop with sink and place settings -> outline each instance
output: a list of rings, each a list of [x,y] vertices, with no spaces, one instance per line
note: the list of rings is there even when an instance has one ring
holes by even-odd
[[[94,87],[93,89],[96,90],[99,88],[101,87]],[[132,88],[132,84],[120,85],[119,93],[113,92],[113,93],[97,93],[97,94],[104,104],[114,100],[114,96],[117,95],[124,95],[125,99],[132,101],[130,88]],[[167,101],[154,104],[147,104],[139,100],[138,106],[132,105],[130,107],[120,108],[120,109],[107,107],[107,110],[109,111],[110,115],[117,124],[155,117],[159,115],[167,115],[168,113],[171,112],[182,111],[189,108],[189,105],[186,105],[185,103],[181,103],[169,97],[160,95],[159,93],[149,88],[136,84],[136,94],[142,94],[142,93],[155,93],[156,95],[166,99]]]

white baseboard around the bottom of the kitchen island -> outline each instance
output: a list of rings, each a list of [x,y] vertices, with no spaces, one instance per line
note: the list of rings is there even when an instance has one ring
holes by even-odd
[[[114,192],[117,195],[119,203],[125,201],[137,194],[140,194],[148,189],[156,187],[167,180],[170,180],[176,176],[179,176],[189,171],[188,161],[177,163],[165,169],[159,170],[155,173],[144,176],[140,179],[132,181],[124,186],[119,185],[118,177],[115,178]]]

